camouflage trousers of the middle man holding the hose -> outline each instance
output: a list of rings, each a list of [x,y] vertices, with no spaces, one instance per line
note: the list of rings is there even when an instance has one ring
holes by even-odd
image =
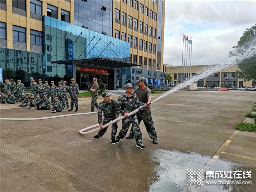
[[[132,115],[122,120],[122,129],[117,135],[116,139],[124,139],[128,132],[130,125],[132,124],[136,143],[142,143],[142,133],[140,131],[137,115]]]

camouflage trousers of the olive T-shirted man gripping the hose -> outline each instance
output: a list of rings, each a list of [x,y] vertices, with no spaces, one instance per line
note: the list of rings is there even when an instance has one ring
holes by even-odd
[[[143,120],[143,123],[146,127],[147,133],[149,135],[149,137],[151,139],[155,139],[157,138],[157,131],[155,131],[155,127],[154,127],[154,121],[152,119],[151,116],[151,110],[142,110],[139,111],[137,114],[138,117],[138,123],[140,124],[140,122]],[[133,131],[133,126],[131,128],[131,131],[129,133],[130,135],[134,135],[134,131]]]

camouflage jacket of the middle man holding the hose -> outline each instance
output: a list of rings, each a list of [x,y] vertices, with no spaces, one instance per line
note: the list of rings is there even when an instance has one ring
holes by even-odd
[[[128,97],[126,93],[120,95],[116,102],[116,111],[124,115],[124,113],[130,113],[137,109],[138,106],[142,106],[144,103],[140,102],[136,93],[132,93],[131,97]]]

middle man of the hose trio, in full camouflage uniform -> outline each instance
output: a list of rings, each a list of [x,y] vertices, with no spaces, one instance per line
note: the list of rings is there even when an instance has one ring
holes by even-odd
[[[136,140],[136,147],[141,149],[145,149],[146,147],[142,143],[142,133],[139,128],[138,118],[136,114],[129,116],[128,113],[137,109],[138,106],[143,106],[144,108],[148,108],[149,105],[143,104],[139,101],[136,93],[133,93],[133,86],[131,83],[128,83],[124,86],[125,93],[118,97],[116,102],[116,110],[118,113],[121,113],[124,117],[122,120],[122,129],[116,137],[116,143],[120,142],[120,139],[123,139],[127,134],[130,124],[132,123],[133,131]]]

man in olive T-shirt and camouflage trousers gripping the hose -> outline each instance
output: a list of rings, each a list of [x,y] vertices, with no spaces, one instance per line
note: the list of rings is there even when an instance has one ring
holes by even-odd
[[[151,90],[146,87],[146,78],[140,77],[138,79],[138,88],[134,90],[134,93],[137,94],[139,100],[143,103],[150,103],[151,102]],[[157,144],[157,131],[155,131],[154,122],[151,116],[151,110],[150,108],[143,109],[142,111],[139,111],[137,114],[138,117],[138,124],[143,120],[143,123],[146,127],[146,130],[148,132],[148,135],[151,139],[153,139],[153,143]],[[131,131],[129,135],[126,137],[126,139],[134,138],[134,132],[133,132],[133,126],[131,128]]]

